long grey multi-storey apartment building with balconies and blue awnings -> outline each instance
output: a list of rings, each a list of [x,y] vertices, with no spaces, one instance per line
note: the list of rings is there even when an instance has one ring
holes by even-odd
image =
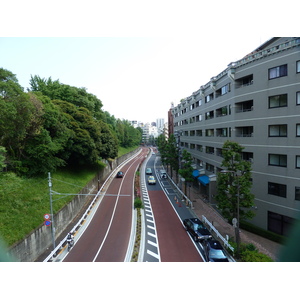
[[[266,41],[171,112],[201,192],[214,201],[221,148],[239,143],[252,163],[251,222],[285,235],[300,214],[300,38]]]

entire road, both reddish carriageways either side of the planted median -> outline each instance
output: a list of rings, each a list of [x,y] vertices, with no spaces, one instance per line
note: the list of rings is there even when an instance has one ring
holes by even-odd
[[[93,216],[75,235],[75,245],[66,249],[57,261],[64,262],[124,262],[130,261],[130,243],[134,240],[133,201],[134,177],[148,149],[124,164],[123,178],[113,178],[105,195],[94,209]],[[184,230],[181,219],[191,212],[174,201],[175,192],[167,179],[155,173],[159,165],[156,155],[150,155],[141,168],[141,193],[144,202],[144,234],[139,261],[201,262],[201,247]],[[145,167],[153,169],[157,184],[146,182]],[[160,168],[160,167],[159,167]],[[129,257],[129,259],[128,259]]]

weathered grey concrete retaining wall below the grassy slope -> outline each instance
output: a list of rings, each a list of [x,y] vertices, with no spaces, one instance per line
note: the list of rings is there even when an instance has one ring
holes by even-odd
[[[106,167],[99,172],[80,192],[79,194],[95,194],[98,190],[100,182],[108,177],[108,175],[117,168],[122,162],[134,155],[139,149],[125,154],[122,157],[115,159],[112,162],[107,162]],[[74,199],[64,206],[59,212],[54,215],[55,238],[59,238],[60,234],[72,222],[72,220],[81,211],[83,206],[88,202],[89,197],[85,195],[77,195]],[[37,229],[32,231],[28,236],[12,246],[9,250],[10,254],[16,261],[32,262],[35,261],[45,251],[52,250],[52,234],[51,227],[41,224]],[[50,250],[51,249],[51,250]]]

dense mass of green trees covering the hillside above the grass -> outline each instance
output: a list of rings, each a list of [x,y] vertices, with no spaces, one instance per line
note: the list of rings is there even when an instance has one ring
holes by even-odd
[[[139,145],[142,130],[102,110],[85,88],[31,76],[24,92],[0,68],[0,170],[32,176],[70,165],[95,166],[119,147]]]

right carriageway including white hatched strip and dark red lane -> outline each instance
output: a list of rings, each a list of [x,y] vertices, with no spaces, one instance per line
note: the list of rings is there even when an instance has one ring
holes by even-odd
[[[161,179],[159,160],[151,155],[146,167],[152,169],[156,185],[147,183],[145,175],[143,198],[145,205],[145,253],[143,261],[201,262],[199,243],[195,244],[183,228],[181,219],[194,217],[181,203],[174,201],[175,191],[167,179]]]

